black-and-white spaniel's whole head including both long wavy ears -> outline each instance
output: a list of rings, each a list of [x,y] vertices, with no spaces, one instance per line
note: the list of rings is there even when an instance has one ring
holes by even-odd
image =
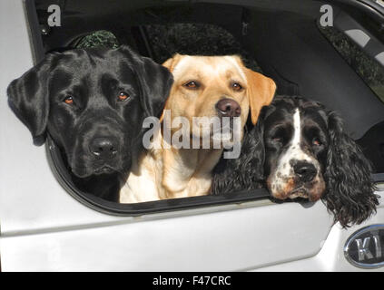
[[[276,96],[244,136],[240,159],[228,160],[214,175],[212,189],[216,194],[231,187],[255,189],[265,182],[273,198],[321,198],[347,227],[369,218],[379,204],[370,172],[334,111],[300,97]]]

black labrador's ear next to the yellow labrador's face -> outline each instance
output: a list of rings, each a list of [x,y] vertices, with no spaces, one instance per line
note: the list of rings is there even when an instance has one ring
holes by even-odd
[[[147,116],[160,117],[171,91],[173,76],[167,68],[152,59],[134,53],[127,45],[118,50],[133,63],[142,90],[142,105]]]

